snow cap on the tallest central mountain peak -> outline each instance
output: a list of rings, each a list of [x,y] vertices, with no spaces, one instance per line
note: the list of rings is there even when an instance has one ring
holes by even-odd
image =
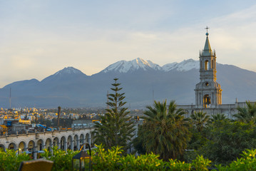
[[[103,70],[104,73],[109,71],[116,71],[119,73],[127,73],[128,71],[135,71],[138,69],[143,69],[147,71],[148,69],[161,70],[161,67],[158,64],[155,64],[151,61],[145,61],[142,58],[136,58],[132,61],[118,61],[108,66]]]

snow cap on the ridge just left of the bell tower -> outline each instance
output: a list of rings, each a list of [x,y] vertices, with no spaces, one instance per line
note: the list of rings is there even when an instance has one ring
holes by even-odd
[[[180,63],[168,63],[163,67],[163,71],[168,72],[171,70],[176,71],[190,71],[191,69],[199,69],[199,61],[195,61],[193,59],[184,60]]]

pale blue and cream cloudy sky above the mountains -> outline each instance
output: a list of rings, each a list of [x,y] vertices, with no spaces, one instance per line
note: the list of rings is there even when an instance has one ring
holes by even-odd
[[[0,0],[0,87],[73,66],[86,75],[135,58],[199,59],[256,71],[255,0]]]

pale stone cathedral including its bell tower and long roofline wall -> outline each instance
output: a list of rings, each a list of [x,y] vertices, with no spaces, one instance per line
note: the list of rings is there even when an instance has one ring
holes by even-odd
[[[208,29],[208,27],[207,27]],[[209,33],[206,33],[205,47],[199,54],[200,60],[200,82],[195,86],[195,105],[178,105],[188,113],[187,117],[195,111],[203,111],[208,115],[224,113],[227,118],[237,113],[237,107],[246,106],[245,102],[233,104],[222,104],[222,89],[217,83],[216,53],[212,51],[209,41]]]

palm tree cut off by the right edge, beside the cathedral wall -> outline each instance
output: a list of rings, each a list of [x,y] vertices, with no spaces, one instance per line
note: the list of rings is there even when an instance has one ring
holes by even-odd
[[[242,121],[243,123],[250,123],[251,121],[255,123],[256,121],[256,103],[250,103],[246,101],[247,107],[240,108],[238,107],[238,113],[233,115],[237,120]]]

